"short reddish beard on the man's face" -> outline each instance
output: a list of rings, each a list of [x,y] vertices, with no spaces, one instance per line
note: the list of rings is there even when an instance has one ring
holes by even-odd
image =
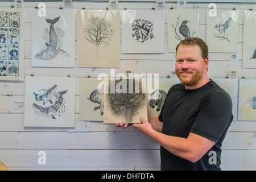
[[[181,83],[185,86],[193,86],[195,84],[197,84],[197,82],[199,82],[201,80],[201,78],[204,75],[204,67],[202,67],[201,69],[197,70],[197,71],[188,71],[188,69],[181,69],[180,71],[175,70],[177,77],[179,77]],[[182,72],[186,72],[191,74],[191,77],[189,80],[187,80],[187,77],[183,77],[181,75]]]

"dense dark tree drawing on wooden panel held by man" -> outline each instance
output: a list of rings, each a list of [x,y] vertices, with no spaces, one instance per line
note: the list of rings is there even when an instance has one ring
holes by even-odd
[[[141,81],[127,79],[127,85],[121,85],[120,88],[118,88],[118,82],[121,81],[115,80],[115,92],[106,94],[106,101],[108,102],[108,107],[110,111],[109,114],[113,115],[113,117],[121,117],[126,123],[133,123],[134,119],[137,119],[135,117],[138,117],[137,115],[141,112],[142,108],[146,106],[146,93],[129,93],[129,90],[131,89],[129,88],[129,86],[133,86],[133,90],[142,90]],[[133,81],[133,85],[131,85],[131,83],[129,84],[130,81]],[[122,90],[123,86],[127,86],[127,90],[125,89],[125,92],[118,93],[117,90]]]

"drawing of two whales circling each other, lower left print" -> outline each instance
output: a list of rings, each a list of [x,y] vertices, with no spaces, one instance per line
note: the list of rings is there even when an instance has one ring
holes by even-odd
[[[65,112],[65,101],[63,95],[68,90],[56,92],[57,85],[52,86],[50,89],[40,89],[38,93],[34,92],[36,103],[32,104],[35,113],[41,117],[49,117],[56,119],[60,117],[61,113]],[[55,103],[52,100],[55,99]]]

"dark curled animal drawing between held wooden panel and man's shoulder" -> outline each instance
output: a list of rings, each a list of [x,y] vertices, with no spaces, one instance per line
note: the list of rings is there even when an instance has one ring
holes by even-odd
[[[166,100],[166,92],[164,90],[154,90],[150,94],[149,106],[154,109],[157,106],[156,111],[160,111],[163,107],[164,100]]]

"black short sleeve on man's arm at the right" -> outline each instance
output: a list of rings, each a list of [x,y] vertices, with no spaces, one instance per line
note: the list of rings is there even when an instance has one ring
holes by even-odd
[[[229,94],[224,90],[212,92],[201,102],[200,107],[191,132],[218,142],[233,120]]]

